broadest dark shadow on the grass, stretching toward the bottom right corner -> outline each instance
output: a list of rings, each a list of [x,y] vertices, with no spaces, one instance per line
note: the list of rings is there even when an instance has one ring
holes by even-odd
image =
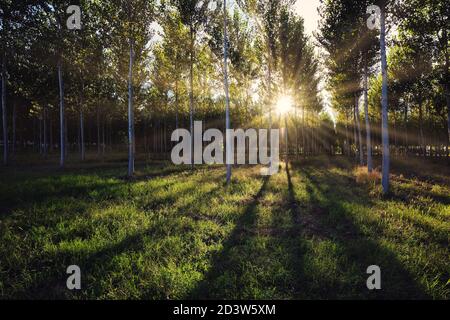
[[[349,283],[335,283],[332,286],[324,283],[323,289],[326,298],[378,298],[378,299],[422,299],[430,298],[414,277],[405,269],[396,255],[382,247],[375,239],[374,234],[366,234],[355,224],[351,212],[344,206],[344,202],[350,200],[370,210],[373,205],[360,190],[352,188],[356,197],[345,198],[343,190],[336,190],[335,185],[327,181],[339,181],[343,179],[337,174],[325,174],[325,177],[317,178],[309,168],[299,170],[307,180],[307,192],[313,210],[309,219],[314,225],[308,237],[314,237],[314,230],[321,230],[320,240],[328,240],[336,243],[342,257],[338,259],[338,272],[346,273],[349,268],[357,275],[348,274]],[[344,188],[344,186],[340,187]],[[344,197],[340,197],[342,194]],[[347,195],[348,196],[348,195]],[[365,222],[371,230],[382,234],[383,230],[376,222]],[[305,226],[309,228],[308,225]],[[370,265],[379,265],[382,270],[382,290],[369,291],[366,287],[366,269]]]

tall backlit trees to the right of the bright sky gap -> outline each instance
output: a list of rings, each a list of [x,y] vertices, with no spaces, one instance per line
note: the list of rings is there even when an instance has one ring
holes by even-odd
[[[381,11],[379,29],[371,30],[368,13],[378,13],[373,4]],[[320,8],[317,38],[327,54],[328,87],[338,111],[344,152],[352,153],[353,141],[353,153],[371,171],[372,139],[380,141],[386,193],[390,141],[396,153],[433,155],[434,149],[434,154],[449,156],[449,8],[440,0],[328,0]]]

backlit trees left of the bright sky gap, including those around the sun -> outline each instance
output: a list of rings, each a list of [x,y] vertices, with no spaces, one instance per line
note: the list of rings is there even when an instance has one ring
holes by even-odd
[[[131,175],[136,146],[166,152],[194,119],[271,126],[287,92],[319,121],[318,61],[292,1],[80,1],[81,30],[65,26],[70,4],[2,5],[5,163],[30,143],[59,148],[61,166],[76,144],[84,160],[87,138],[99,154],[125,142]]]

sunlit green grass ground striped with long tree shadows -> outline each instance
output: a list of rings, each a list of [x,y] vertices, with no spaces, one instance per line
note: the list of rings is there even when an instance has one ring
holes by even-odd
[[[388,197],[344,157],[228,187],[222,167],[2,168],[0,298],[450,299],[450,168],[393,162]]]

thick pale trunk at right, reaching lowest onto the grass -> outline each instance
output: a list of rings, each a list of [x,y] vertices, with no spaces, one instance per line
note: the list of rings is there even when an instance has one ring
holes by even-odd
[[[382,163],[382,186],[383,193],[389,193],[389,171],[390,171],[390,154],[389,154],[389,128],[388,128],[388,74],[386,60],[386,7],[381,8],[381,74],[382,74],[382,90],[381,90],[381,136],[383,144],[383,163]]]

